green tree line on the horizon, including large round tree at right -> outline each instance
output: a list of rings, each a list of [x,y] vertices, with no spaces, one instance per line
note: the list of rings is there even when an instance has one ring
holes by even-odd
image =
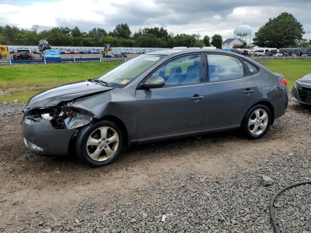
[[[253,38],[254,45],[259,47],[286,48],[311,47],[311,40],[303,39],[302,24],[287,12],[269,21],[259,28]],[[180,33],[174,35],[161,27],[139,28],[132,33],[127,23],[116,25],[112,32],[103,28],[93,28],[89,32],[82,32],[77,26],[74,28],[54,27],[38,32],[38,25],[31,29],[19,29],[15,26],[0,26],[0,44],[3,45],[38,45],[40,39],[47,40],[52,46],[103,47],[200,47],[215,46],[222,48],[223,38],[219,34],[201,39],[200,34]],[[246,42],[243,43],[245,48]]]

